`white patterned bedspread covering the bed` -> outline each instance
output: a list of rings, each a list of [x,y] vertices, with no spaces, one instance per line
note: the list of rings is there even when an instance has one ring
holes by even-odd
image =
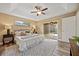
[[[43,35],[38,34],[28,36],[15,36],[15,41],[20,51],[25,51],[28,48],[34,47],[35,45],[42,42],[43,39]]]

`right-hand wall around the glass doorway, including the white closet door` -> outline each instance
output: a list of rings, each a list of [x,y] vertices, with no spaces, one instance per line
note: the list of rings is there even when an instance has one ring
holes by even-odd
[[[77,16],[79,16],[79,13],[77,13]],[[61,15],[60,17],[54,17],[38,21],[37,27],[40,28],[39,33],[44,34],[43,25],[52,21],[58,22],[58,39],[61,41],[69,42],[69,38],[75,36],[77,32],[79,34],[79,20],[77,20],[76,23],[76,11]]]

